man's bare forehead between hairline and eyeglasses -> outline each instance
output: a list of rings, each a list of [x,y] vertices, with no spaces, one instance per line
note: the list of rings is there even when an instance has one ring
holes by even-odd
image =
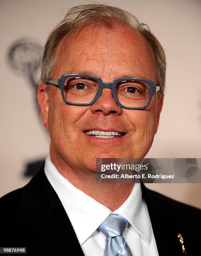
[[[128,26],[85,26],[63,38],[56,56],[52,72],[55,78],[65,73],[87,73],[106,77],[110,74],[111,79],[127,74],[156,79],[150,45]]]

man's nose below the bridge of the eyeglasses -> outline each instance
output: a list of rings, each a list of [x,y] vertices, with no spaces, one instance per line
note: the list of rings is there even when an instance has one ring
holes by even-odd
[[[98,100],[91,105],[91,111],[94,114],[102,113],[103,115],[120,115],[122,113],[122,108],[117,105],[117,102],[112,96],[112,90],[108,88],[102,89],[102,94],[99,96]]]

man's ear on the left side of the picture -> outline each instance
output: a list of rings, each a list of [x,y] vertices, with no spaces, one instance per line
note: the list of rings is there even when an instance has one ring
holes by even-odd
[[[45,90],[46,86],[47,86],[46,84],[38,85],[37,100],[41,110],[41,121],[43,123],[43,127],[48,130],[49,99],[48,99],[48,93]]]

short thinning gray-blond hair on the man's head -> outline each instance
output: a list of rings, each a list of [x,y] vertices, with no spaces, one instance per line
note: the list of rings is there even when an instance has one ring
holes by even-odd
[[[61,40],[71,32],[79,31],[88,24],[104,25],[114,29],[114,21],[135,28],[148,41],[155,57],[156,75],[161,91],[165,89],[165,53],[158,39],[145,23],[140,23],[131,13],[121,8],[103,4],[79,5],[70,8],[63,20],[50,33],[43,53],[41,82],[47,82],[56,63],[56,53]]]

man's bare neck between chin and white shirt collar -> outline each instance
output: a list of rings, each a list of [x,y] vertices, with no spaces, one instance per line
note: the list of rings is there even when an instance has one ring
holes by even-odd
[[[51,161],[71,184],[112,211],[125,202],[134,186],[133,183],[97,183],[95,172],[72,169],[54,154],[51,154]]]

